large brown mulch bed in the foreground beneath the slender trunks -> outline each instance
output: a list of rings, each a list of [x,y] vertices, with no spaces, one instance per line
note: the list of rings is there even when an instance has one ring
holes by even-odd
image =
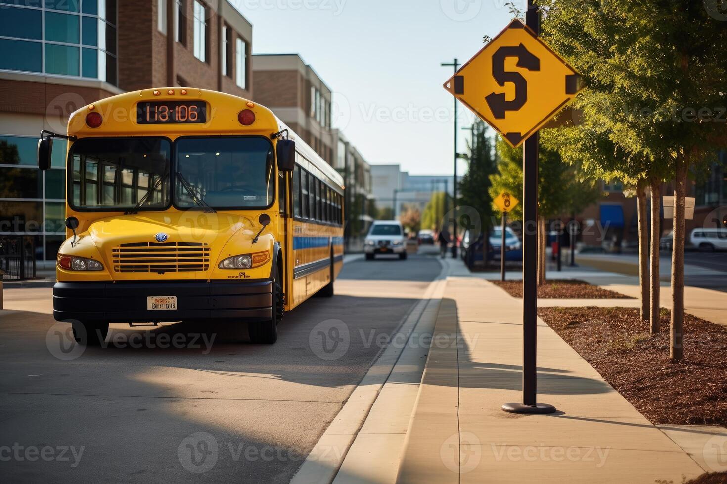
[[[727,328],[685,314],[682,361],[632,308],[539,308],[538,314],[654,424],[727,424]],[[711,482],[711,481],[705,481]]]

